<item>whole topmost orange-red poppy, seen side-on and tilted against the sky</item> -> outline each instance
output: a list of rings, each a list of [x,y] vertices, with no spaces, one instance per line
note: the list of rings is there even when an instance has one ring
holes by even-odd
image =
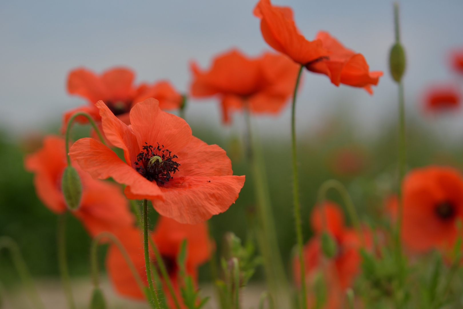
[[[297,29],[293,11],[287,6],[274,6],[270,0],[260,0],[254,15],[261,19],[264,40],[275,50],[288,55],[308,70],[327,75],[336,86],[345,84],[365,88],[378,83],[382,72],[369,72],[362,54],[345,48],[328,32],[319,32],[312,42]]]

